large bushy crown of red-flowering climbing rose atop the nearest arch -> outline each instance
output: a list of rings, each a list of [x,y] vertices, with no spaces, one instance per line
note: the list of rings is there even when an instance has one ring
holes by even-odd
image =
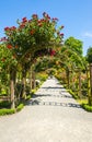
[[[1,42],[7,43],[7,48],[11,49],[16,56],[34,54],[39,49],[49,48],[49,46],[61,44],[64,34],[60,31],[64,26],[56,29],[58,19],[53,17],[44,12],[43,17],[39,19],[37,14],[33,14],[32,19],[23,17],[18,20],[18,27],[5,27],[4,32],[7,37],[3,37]],[[54,56],[56,51],[50,50],[50,56]],[[21,57],[21,56],[19,56]]]

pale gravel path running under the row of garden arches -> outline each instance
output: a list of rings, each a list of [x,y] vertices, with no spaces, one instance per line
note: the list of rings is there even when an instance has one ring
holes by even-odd
[[[0,117],[0,142],[92,142],[92,114],[48,79],[24,109]]]

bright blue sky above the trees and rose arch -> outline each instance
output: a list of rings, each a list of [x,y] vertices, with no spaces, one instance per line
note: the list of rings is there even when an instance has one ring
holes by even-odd
[[[0,37],[5,26],[16,26],[18,19],[30,19],[33,13],[42,16],[43,12],[58,17],[58,25],[65,26],[64,39],[80,39],[87,54],[92,46],[92,0],[0,0]]]

